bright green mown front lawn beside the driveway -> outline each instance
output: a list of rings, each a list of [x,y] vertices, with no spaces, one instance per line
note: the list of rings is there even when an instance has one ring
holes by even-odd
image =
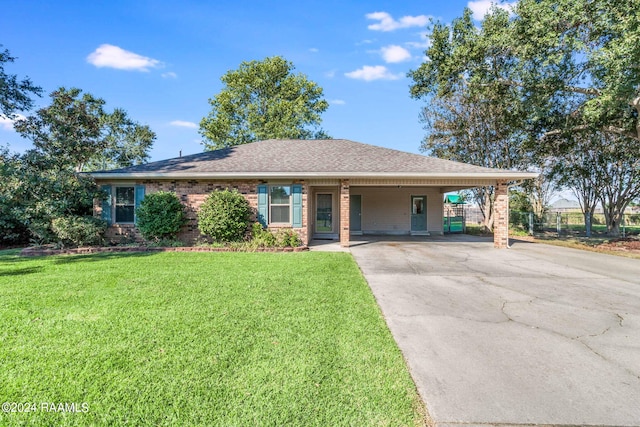
[[[349,254],[16,254],[0,251],[0,403],[35,411],[0,425],[424,423]],[[79,412],[45,412],[60,403]]]

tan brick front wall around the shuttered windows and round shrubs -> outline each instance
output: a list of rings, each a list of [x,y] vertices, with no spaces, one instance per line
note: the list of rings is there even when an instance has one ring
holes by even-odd
[[[98,184],[104,185],[109,183],[99,182]],[[131,183],[131,185],[133,184],[134,183]],[[151,194],[157,191],[170,191],[177,194],[178,198],[185,206],[185,211],[187,214],[187,224],[182,227],[182,230],[178,234],[178,239],[186,244],[193,244],[198,238],[201,237],[200,230],[198,230],[197,212],[210,193],[216,190],[224,189],[237,190],[249,202],[249,206],[253,211],[251,221],[255,221],[256,212],[258,209],[258,185],[266,184],[266,182],[259,180],[144,180],[136,181],[135,184],[144,185],[145,194]],[[302,203],[303,207],[306,206],[308,186],[305,185],[303,181],[294,181],[292,182],[292,184],[303,184]],[[94,200],[93,212],[94,216],[100,217],[102,215],[102,204],[99,200]],[[274,230],[273,227],[271,227],[270,229]],[[302,228],[295,228],[294,230],[298,233],[301,240],[306,245],[308,243],[306,209],[303,208]],[[116,242],[142,241],[142,236],[132,224],[114,224],[107,229],[106,236],[108,239]]]

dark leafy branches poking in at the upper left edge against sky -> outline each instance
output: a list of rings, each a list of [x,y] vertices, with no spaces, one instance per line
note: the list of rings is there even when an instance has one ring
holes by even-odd
[[[16,75],[5,72],[4,64],[15,60],[7,49],[0,51],[0,118],[14,119],[16,111],[30,110],[33,107],[30,95],[40,96],[42,93],[42,89],[29,78],[18,80]]]

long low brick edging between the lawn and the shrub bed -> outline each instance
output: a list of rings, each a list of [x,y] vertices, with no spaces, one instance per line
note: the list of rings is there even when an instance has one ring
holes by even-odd
[[[308,246],[286,247],[286,248],[256,248],[251,250],[238,248],[208,248],[200,246],[180,246],[180,247],[148,247],[148,246],[100,246],[69,249],[53,249],[43,247],[24,248],[21,256],[43,256],[43,255],[86,255],[103,252],[303,252],[308,251]]]

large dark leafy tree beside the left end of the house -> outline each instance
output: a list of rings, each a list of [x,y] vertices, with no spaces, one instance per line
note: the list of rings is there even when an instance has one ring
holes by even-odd
[[[141,163],[155,134],[104,100],[60,88],[51,105],[14,127],[33,142],[22,155],[0,152],[0,233],[5,240],[56,240],[56,218],[90,216],[100,191],[77,172]]]

